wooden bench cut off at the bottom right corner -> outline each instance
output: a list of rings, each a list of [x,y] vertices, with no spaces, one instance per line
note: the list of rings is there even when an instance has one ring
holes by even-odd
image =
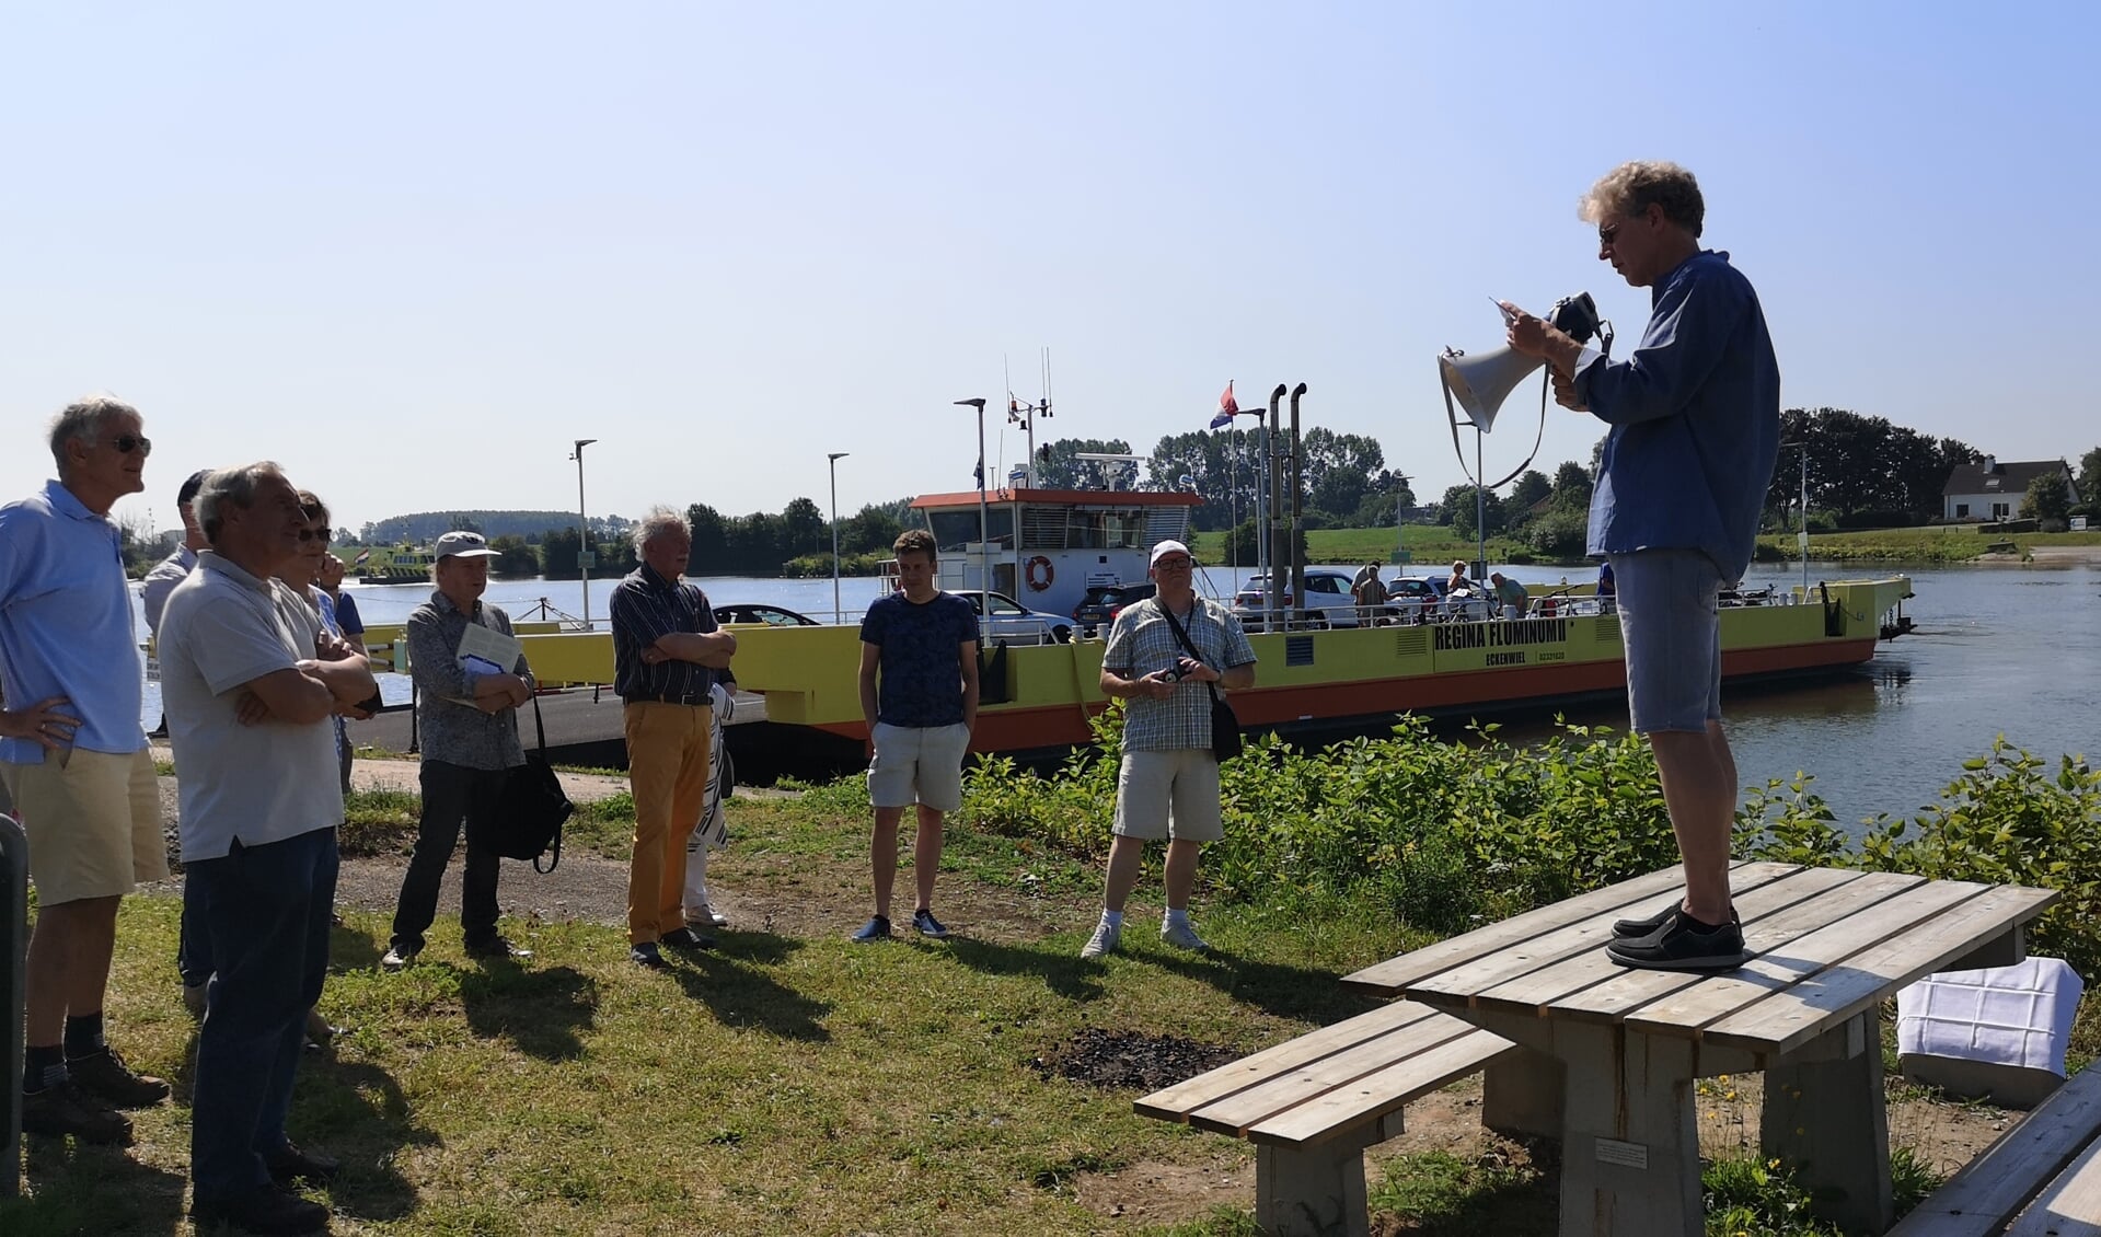
[[[2101,1235],[2101,1069],[2057,1088],[1889,1237]],[[2069,1166],[2069,1168],[2067,1168]],[[2025,1208],[2025,1210],[2023,1210]],[[2019,1216],[2013,1229],[2006,1222]]]

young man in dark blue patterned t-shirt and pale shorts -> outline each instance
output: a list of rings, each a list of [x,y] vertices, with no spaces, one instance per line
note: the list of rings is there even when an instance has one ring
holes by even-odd
[[[868,798],[876,806],[876,916],[853,935],[859,943],[891,935],[891,884],[897,878],[897,823],[918,806],[912,867],[918,905],[912,926],[948,937],[933,918],[933,878],[941,867],[941,817],[962,806],[962,756],[977,725],[977,611],[933,582],[935,540],[910,529],[891,546],[899,590],[861,620],[861,716],[868,718]]]

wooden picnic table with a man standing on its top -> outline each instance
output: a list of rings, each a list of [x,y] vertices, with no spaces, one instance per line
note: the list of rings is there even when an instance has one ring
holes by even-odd
[[[2055,890],[1889,872],[1740,863],[1752,960],[1725,974],[1632,970],[1611,922],[1683,890],[1670,867],[1368,966],[1345,985],[1403,995],[1527,1048],[1504,1069],[1553,1113],[1563,1237],[1700,1237],[1693,1082],[1765,1071],[1763,1153],[1843,1224],[1893,1216],[1882,1002],[1937,970],[2006,966]],[[1521,1079],[1521,1082],[1517,1082]]]

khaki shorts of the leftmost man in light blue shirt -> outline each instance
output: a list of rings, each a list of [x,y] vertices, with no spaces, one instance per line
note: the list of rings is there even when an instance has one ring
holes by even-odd
[[[160,779],[151,752],[84,752],[65,764],[0,762],[15,815],[29,836],[29,880],[38,905],[122,897],[168,876],[160,830]]]

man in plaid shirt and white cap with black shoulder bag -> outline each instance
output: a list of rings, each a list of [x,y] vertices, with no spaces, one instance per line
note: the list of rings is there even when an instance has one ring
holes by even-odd
[[[1151,554],[1158,592],[1116,615],[1101,653],[1103,695],[1124,697],[1124,762],[1116,775],[1116,840],[1101,924],[1080,958],[1116,951],[1124,899],[1139,882],[1147,838],[1168,838],[1168,914],[1160,939],[1206,949],[1189,926],[1189,890],[1204,842],[1225,827],[1219,815],[1219,758],[1210,750],[1210,693],[1254,687],[1254,649],[1229,609],[1191,588],[1195,559],[1181,542]],[[1198,655],[1191,657],[1177,624]]]

